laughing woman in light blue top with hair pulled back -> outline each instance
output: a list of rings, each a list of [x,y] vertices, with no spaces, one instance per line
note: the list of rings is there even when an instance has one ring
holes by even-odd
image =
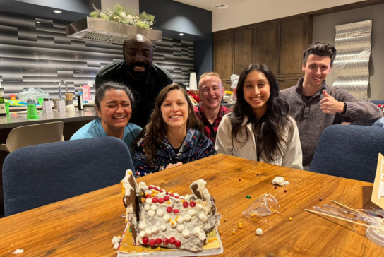
[[[95,95],[98,118],[76,131],[71,140],[114,136],[131,149],[132,141],[141,131],[139,126],[128,122],[131,119],[132,104],[132,93],[126,85],[103,83]]]

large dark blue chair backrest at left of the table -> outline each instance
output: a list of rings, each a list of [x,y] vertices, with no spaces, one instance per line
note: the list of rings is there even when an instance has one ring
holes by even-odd
[[[135,170],[128,147],[114,137],[31,145],[3,165],[5,215],[119,183]]]

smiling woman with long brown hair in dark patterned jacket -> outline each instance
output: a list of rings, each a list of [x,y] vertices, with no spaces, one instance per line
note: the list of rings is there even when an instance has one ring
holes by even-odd
[[[214,155],[214,145],[202,130],[186,90],[177,84],[165,87],[133,145],[137,177]]]

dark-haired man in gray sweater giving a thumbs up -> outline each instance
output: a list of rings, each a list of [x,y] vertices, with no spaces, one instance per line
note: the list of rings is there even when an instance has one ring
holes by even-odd
[[[289,115],[299,128],[304,169],[309,169],[326,127],[342,122],[371,121],[383,116],[376,104],[327,85],[325,78],[332,70],[335,57],[336,49],[331,44],[310,44],[303,53],[304,78],[300,78],[295,86],[280,91],[280,97],[289,104]]]

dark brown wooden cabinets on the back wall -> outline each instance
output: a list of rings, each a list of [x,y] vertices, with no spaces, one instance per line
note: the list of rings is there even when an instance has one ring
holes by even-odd
[[[304,14],[256,23],[215,32],[214,38],[214,70],[226,90],[230,76],[240,75],[252,63],[268,66],[281,90],[296,85],[303,76],[301,59],[312,41],[312,18]]]

